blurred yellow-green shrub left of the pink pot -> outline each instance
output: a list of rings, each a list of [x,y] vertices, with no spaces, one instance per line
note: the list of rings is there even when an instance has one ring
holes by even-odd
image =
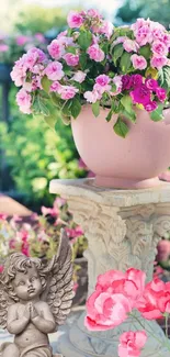
[[[49,205],[49,181],[54,178],[83,177],[78,167],[79,155],[69,126],[58,121],[57,132],[41,119],[21,114],[14,102],[15,90],[11,90],[11,114],[9,124],[0,125],[0,145],[19,192],[25,194],[25,204]],[[58,115],[56,111],[56,115]]]

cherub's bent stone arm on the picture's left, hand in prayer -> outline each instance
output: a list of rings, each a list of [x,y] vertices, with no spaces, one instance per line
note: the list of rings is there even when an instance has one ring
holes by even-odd
[[[26,308],[25,308],[26,310]],[[18,335],[25,330],[30,321],[29,314],[18,319],[16,305],[13,304],[8,309],[7,330],[10,334]]]

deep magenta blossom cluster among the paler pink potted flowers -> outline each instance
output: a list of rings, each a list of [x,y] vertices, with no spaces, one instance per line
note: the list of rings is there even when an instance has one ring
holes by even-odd
[[[165,102],[167,91],[152,78],[143,78],[140,75],[124,75],[122,77],[123,90],[128,90],[134,104],[143,104],[145,110],[151,112],[159,102]]]

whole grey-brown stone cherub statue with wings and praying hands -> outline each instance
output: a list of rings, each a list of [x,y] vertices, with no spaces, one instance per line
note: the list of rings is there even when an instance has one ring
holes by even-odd
[[[0,346],[0,357],[58,357],[48,334],[70,312],[73,299],[71,247],[61,232],[57,255],[41,259],[12,254],[0,275],[0,325],[15,335]]]

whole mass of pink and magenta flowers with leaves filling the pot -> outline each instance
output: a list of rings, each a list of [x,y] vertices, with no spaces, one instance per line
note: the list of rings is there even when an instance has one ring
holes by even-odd
[[[71,11],[69,29],[47,46],[48,55],[32,48],[11,72],[21,87],[16,101],[24,113],[44,115],[55,127],[55,109],[65,123],[90,103],[95,116],[109,108],[106,121],[117,114],[116,134],[125,137],[136,109],[152,121],[163,119],[169,105],[170,33],[151,20],[114,27],[94,9]]]

